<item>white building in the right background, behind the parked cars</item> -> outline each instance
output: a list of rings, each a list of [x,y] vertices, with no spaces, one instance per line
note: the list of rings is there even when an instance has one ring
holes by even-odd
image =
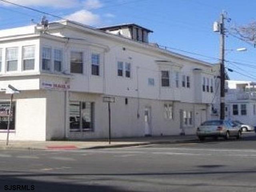
[[[226,81],[226,118],[256,126],[256,82]]]

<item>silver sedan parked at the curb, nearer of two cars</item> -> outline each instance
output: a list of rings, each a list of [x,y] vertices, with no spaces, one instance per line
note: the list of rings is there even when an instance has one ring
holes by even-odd
[[[218,138],[224,137],[229,139],[234,136],[239,139],[242,136],[242,131],[237,124],[233,124],[227,120],[210,120],[203,122],[196,130],[196,135],[200,141],[206,137]]]

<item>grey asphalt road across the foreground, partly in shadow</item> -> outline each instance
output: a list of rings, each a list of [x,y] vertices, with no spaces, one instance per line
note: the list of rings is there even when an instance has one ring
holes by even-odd
[[[254,192],[256,136],[98,150],[0,151],[0,166],[0,191],[27,185],[40,192]]]

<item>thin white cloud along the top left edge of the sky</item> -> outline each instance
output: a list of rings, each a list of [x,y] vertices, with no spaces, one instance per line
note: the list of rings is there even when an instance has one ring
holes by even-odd
[[[45,6],[55,8],[70,8],[79,6],[79,0],[10,0],[10,2],[24,6]],[[5,6],[11,6],[8,3],[1,3]]]

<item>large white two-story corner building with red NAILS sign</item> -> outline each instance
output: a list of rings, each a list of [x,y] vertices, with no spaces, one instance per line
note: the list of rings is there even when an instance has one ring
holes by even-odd
[[[112,137],[194,134],[210,118],[212,65],[149,44],[150,32],[70,21],[0,30],[0,88],[21,90],[10,140],[106,138],[104,95],[116,98]],[[0,92],[0,139],[9,98]]]

